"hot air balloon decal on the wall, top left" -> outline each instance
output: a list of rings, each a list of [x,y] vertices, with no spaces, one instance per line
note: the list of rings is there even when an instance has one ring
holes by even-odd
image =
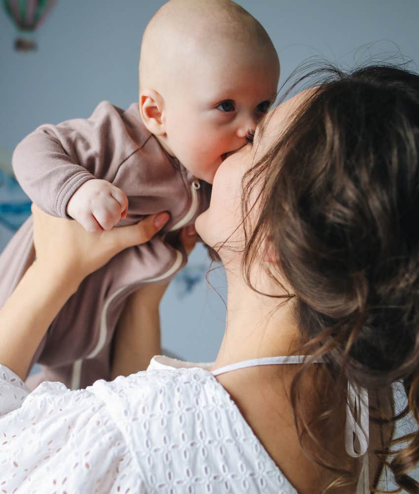
[[[36,50],[34,33],[45,20],[56,0],[2,0],[3,7],[19,31],[14,47],[17,51]]]

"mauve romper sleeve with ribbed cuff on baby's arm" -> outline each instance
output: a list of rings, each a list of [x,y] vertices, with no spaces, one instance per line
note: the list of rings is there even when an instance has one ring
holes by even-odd
[[[25,137],[12,165],[30,199],[49,214],[68,217],[67,203],[84,182],[112,181],[136,150],[122,115],[123,110],[103,101],[88,119],[41,125]]]

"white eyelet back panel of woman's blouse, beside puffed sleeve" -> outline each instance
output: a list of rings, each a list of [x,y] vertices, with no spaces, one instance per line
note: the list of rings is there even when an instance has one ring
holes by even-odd
[[[147,371],[94,384],[103,397],[113,388],[105,399],[147,488],[175,479],[182,492],[295,494],[210,367],[156,357]]]

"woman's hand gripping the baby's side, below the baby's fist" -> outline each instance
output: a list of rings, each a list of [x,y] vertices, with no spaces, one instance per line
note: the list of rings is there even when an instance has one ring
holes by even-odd
[[[93,271],[127,247],[144,244],[169,220],[161,212],[140,223],[113,228],[101,235],[92,235],[76,221],[56,218],[32,205],[36,262],[53,272],[74,289]]]

